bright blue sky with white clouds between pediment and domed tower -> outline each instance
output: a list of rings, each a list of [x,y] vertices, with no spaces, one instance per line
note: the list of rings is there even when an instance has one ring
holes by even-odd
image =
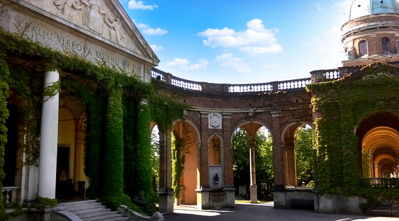
[[[342,66],[351,0],[120,0],[161,60],[193,81],[246,84]]]

